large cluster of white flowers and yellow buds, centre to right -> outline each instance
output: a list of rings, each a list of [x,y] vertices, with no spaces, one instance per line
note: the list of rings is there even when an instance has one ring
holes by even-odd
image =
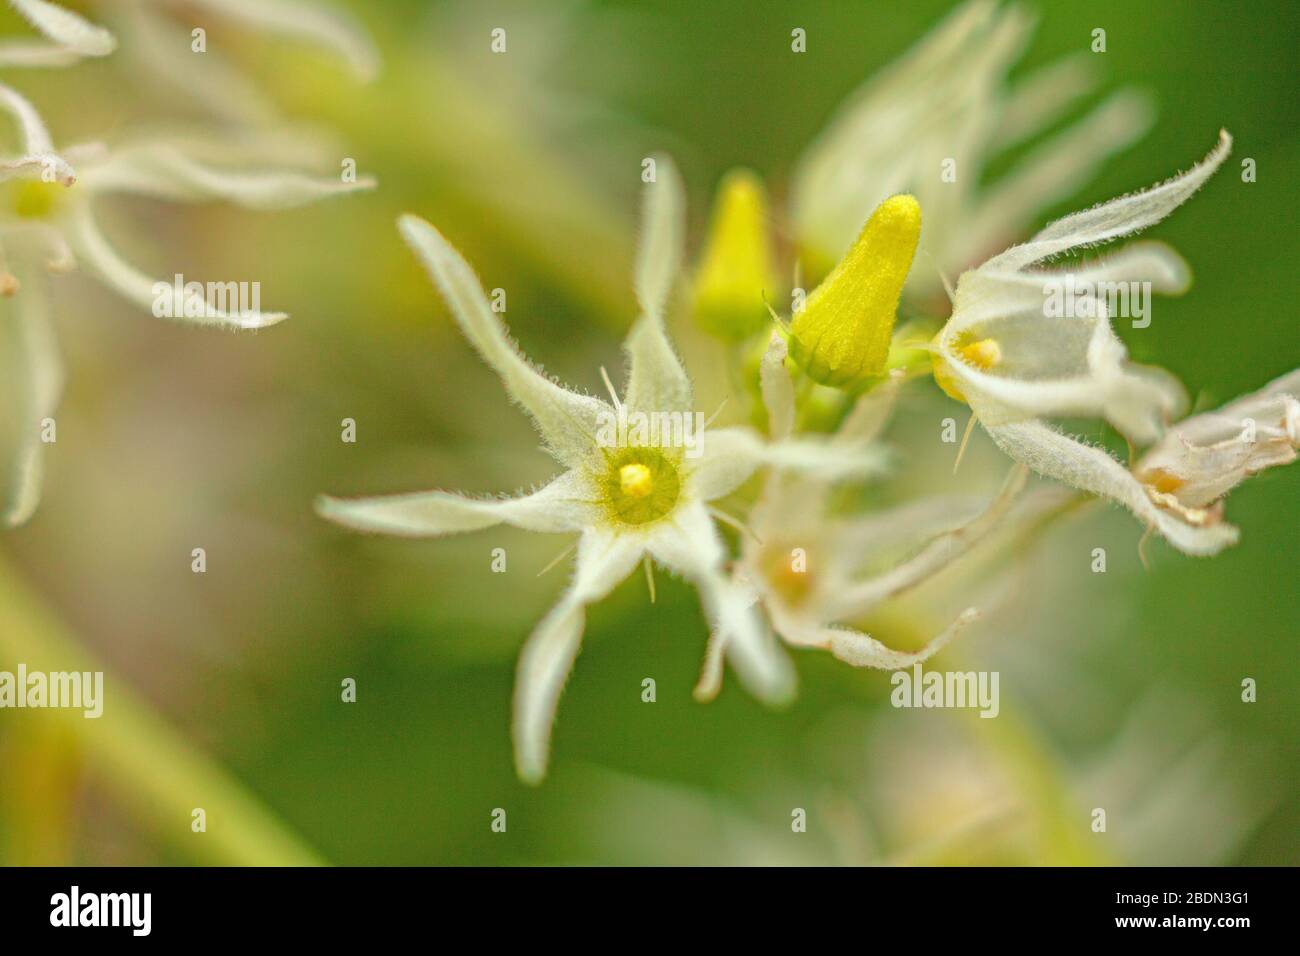
[[[697,696],[718,692],[729,661],[749,691],[780,702],[794,691],[781,641],[826,649],[855,666],[898,669],[926,659],[974,619],[976,610],[967,609],[911,653],[853,627],[1004,525],[1030,472],[1113,499],[1178,550],[1209,555],[1238,537],[1223,520],[1223,496],[1248,475],[1295,458],[1300,373],[1180,419],[1187,402],[1179,384],[1162,369],[1128,362],[1104,307],[1070,317],[1044,308],[1053,290],[1086,280],[1183,291],[1188,269],[1156,243],[1044,263],[1169,216],[1227,157],[1226,131],[1188,172],[1066,216],[976,264],[991,241],[1023,235],[1037,209],[1072,191],[1149,121],[1141,98],[1119,94],[1031,150],[1004,179],[976,187],[994,150],[1056,124],[1092,83],[1084,65],[1070,60],[1011,85],[1006,73],[1028,29],[1014,7],[963,5],[857,92],[812,144],[792,183],[788,219],[797,268],[820,282],[806,297],[794,289],[788,317],[766,299],[780,282],[758,177],[737,170],[723,181],[698,265],[689,269],[689,294],[675,297],[686,259],[684,190],[667,157],[646,164],[654,172],[644,177],[634,276],[641,316],[624,346],[623,394],[606,378],[608,401],[567,389],[532,364],[452,245],[424,220],[402,219],[402,235],[462,332],[532,418],[563,472],[521,497],[441,490],[322,497],[318,511],[354,529],[390,535],[441,536],[503,523],[577,535],[572,580],[519,662],[514,737],[523,779],[546,773],[586,606],[641,563],[647,575],[654,564],[680,575],[701,594],[711,637]],[[952,164],[959,174],[942,176]],[[931,264],[914,265],[918,245]],[[932,310],[948,269],[961,271],[950,313],[927,329],[916,316]],[[697,458],[671,444],[611,449],[597,441],[598,424],[615,416],[698,411],[666,332],[675,306],[734,346],[733,371],[753,386],[766,436],[749,425],[710,428]],[[896,328],[901,306],[913,320]],[[924,377],[968,405],[971,421],[1011,459],[1001,492],[961,519],[946,501],[841,514],[832,505],[835,485],[888,467],[880,434],[900,390]],[[1052,424],[1060,418],[1104,419],[1145,454],[1124,464]],[[710,502],[759,472],[760,489],[732,554],[716,523],[740,523]],[[872,567],[876,544],[913,525],[928,529],[923,546],[884,571]]]

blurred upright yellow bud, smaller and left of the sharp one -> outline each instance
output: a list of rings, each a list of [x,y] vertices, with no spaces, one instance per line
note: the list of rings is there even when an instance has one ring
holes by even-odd
[[[710,334],[744,339],[767,328],[763,293],[776,286],[767,233],[767,194],[748,169],[718,186],[708,239],[692,289],[697,321]]]

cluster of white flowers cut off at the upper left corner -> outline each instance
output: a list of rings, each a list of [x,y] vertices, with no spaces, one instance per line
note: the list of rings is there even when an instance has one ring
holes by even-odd
[[[0,70],[48,69],[114,53],[117,34],[47,0],[9,0],[43,39],[0,42]],[[374,72],[369,42],[348,21],[299,0],[200,0],[204,8],[250,27],[324,46],[361,77]],[[365,177],[311,174],[292,164],[309,152],[277,133],[274,112],[217,51],[195,49],[165,4],[129,4],[120,31],[124,49],[155,72],[165,88],[188,94],[212,114],[196,127],[160,129],[113,144],[56,148],[31,101],[0,82],[0,109],[18,133],[16,152],[0,156],[0,355],[8,363],[4,406],[13,428],[0,449],[0,523],[22,524],[42,488],[43,432],[62,392],[62,363],[49,321],[46,274],[83,269],[127,300],[152,311],[155,278],[126,261],[100,230],[100,196],[136,195],[173,203],[229,202],[283,209],[373,187]],[[169,282],[164,282],[169,285]],[[191,295],[194,295],[191,293]],[[202,297],[174,310],[178,320],[257,329],[283,312],[226,311]]]

